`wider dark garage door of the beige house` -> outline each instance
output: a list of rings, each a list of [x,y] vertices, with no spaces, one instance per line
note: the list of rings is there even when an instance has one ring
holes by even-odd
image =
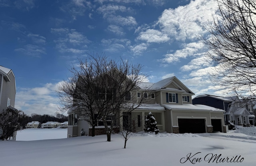
[[[180,133],[204,133],[204,119],[178,119]]]

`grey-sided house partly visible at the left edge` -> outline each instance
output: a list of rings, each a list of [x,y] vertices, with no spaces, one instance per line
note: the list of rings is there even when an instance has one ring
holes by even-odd
[[[0,112],[7,108],[14,108],[16,95],[15,76],[11,69],[0,66]],[[0,130],[0,134],[2,131]],[[16,132],[11,136],[10,140],[16,140]]]

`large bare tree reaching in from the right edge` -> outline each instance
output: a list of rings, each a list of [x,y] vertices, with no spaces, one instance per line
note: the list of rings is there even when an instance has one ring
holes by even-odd
[[[212,15],[201,37],[212,60],[212,82],[244,99],[256,99],[256,1],[216,0],[218,15]]]

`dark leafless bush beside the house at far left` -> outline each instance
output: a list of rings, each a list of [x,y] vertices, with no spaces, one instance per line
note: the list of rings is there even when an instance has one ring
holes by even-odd
[[[14,132],[22,130],[24,124],[24,118],[26,114],[21,110],[6,109],[0,113],[0,140],[8,140]]]

